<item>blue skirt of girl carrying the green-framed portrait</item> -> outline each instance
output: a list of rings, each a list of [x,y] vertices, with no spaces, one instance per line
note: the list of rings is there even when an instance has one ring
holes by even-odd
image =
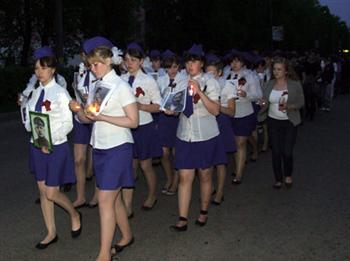
[[[46,186],[58,187],[76,182],[74,162],[67,142],[54,145],[50,154],[30,144],[29,160],[29,168],[36,181],[45,181]]]

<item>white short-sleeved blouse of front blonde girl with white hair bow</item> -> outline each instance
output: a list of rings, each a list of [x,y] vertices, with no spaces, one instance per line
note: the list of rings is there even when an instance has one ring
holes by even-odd
[[[100,81],[114,86],[101,114],[108,116],[125,116],[123,107],[136,102],[135,96],[128,83],[123,81],[114,70],[106,74]],[[124,143],[133,143],[129,128],[120,127],[105,121],[96,121],[93,124],[90,144],[95,149],[110,149]]]

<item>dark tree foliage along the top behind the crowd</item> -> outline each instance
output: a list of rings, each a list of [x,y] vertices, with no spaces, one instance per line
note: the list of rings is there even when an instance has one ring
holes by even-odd
[[[55,10],[57,1],[62,12]],[[138,40],[175,51],[193,42],[207,50],[319,48],[324,53],[350,44],[349,28],[317,0],[2,0],[0,55],[7,63],[25,65],[33,39],[39,46],[55,46],[58,15],[64,56],[77,53],[81,41],[95,35],[118,47]],[[283,42],[271,41],[273,25],[283,26]]]

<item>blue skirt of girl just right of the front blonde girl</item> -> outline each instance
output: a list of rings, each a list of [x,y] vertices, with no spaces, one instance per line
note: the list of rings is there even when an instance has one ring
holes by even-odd
[[[159,144],[155,123],[152,121],[145,125],[139,125],[131,130],[134,138],[134,158],[146,160],[161,157],[162,147]]]

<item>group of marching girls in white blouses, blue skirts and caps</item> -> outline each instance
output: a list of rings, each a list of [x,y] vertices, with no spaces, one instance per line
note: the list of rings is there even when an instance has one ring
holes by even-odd
[[[146,179],[148,194],[142,209],[148,211],[157,203],[157,177],[152,166],[156,157],[161,157],[166,175],[162,193],[178,193],[179,218],[171,230],[187,230],[196,173],[200,209],[195,224],[206,225],[210,203],[220,205],[224,200],[228,152],[235,152],[232,182],[242,182],[248,138],[257,123],[254,103],[261,99],[262,83],[270,75],[264,69],[256,73],[248,70],[244,55],[237,51],[230,52],[228,66],[224,67],[218,56],[205,56],[201,45],[193,45],[186,52],[182,71],[179,57],[170,50],[151,52],[152,66],[145,67],[146,54],[137,43],[129,44],[121,57],[108,39],[99,36],[83,43],[81,57],[83,65],[76,75],[75,88],[82,93],[85,90],[85,94],[71,100],[55,80],[57,62],[51,49],[43,47],[35,53],[39,86],[30,90],[25,109],[27,114],[38,111],[49,115],[54,144],[51,153],[30,145],[30,167],[37,180],[47,228],[46,237],[36,247],[44,249],[58,240],[54,203],[70,214],[72,237],[80,235],[82,214],[76,209],[86,206],[85,176],[92,172],[96,189],[89,205],[98,205],[101,228],[96,260],[110,260],[130,246],[134,242],[129,219],[134,216],[137,169],[141,168]],[[113,69],[116,65],[125,72],[121,76]],[[111,93],[99,114],[84,108],[97,86],[107,86]],[[160,112],[162,98],[181,89],[187,92],[184,111]],[[159,115],[156,122],[155,114]],[[25,126],[31,131],[29,115]],[[67,143],[72,129],[74,164]],[[211,201],[214,170],[217,184]],[[71,203],[59,186],[75,181],[77,198]],[[116,226],[121,238],[113,245]]]

